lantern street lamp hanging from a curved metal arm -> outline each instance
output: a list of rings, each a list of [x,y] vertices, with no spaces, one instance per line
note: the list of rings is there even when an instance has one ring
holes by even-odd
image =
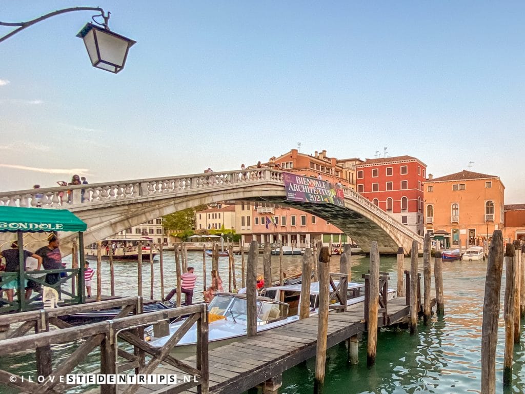
[[[18,26],[17,29],[13,30],[12,32],[6,34],[3,37],[0,37],[0,43],[5,41],[7,38],[15,35],[16,33],[20,32],[20,30],[34,25],[35,23],[41,22],[42,20],[55,15],[60,15],[72,11],[100,12],[100,15],[95,15],[92,17],[92,19],[93,22],[102,27],[99,27],[92,23],[87,23],[86,26],[84,26],[77,34],[77,37],[82,38],[84,40],[84,44],[86,45],[86,49],[88,51],[88,55],[93,67],[110,71],[114,74],[117,74],[117,72],[121,71],[124,68],[129,48],[136,42],[132,39],[121,36],[120,34],[111,32],[111,30],[108,27],[108,20],[111,13],[108,12],[106,16],[106,14],[104,14],[104,10],[100,7],[64,8],[43,15],[39,18],[29,20],[28,22],[0,22],[0,26]],[[97,17],[102,17],[104,22],[97,22],[97,20],[95,20],[95,18]]]

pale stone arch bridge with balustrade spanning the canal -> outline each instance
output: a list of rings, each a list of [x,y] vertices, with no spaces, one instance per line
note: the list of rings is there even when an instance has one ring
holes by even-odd
[[[85,243],[90,244],[157,217],[213,202],[272,202],[327,220],[349,234],[368,252],[377,241],[382,253],[409,252],[412,241],[422,248],[423,237],[394,220],[352,189],[344,189],[345,206],[286,200],[282,172],[255,169],[179,175],[120,182],[69,185],[0,193],[0,205],[68,209],[85,221]],[[85,190],[82,199],[81,190]],[[36,194],[39,194],[38,196]],[[60,193],[64,194],[60,197]],[[73,234],[64,234],[65,237]],[[64,252],[67,253],[65,250]]]

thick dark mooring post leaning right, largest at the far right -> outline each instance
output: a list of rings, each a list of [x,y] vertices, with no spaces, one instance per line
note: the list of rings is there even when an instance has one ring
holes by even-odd
[[[496,345],[503,272],[503,236],[500,230],[492,234],[488,256],[481,326],[481,394],[496,394]]]

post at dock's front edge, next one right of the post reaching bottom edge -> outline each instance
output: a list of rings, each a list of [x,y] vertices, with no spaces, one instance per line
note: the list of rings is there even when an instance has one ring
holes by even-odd
[[[379,304],[379,248],[377,242],[373,241],[370,247],[370,294],[368,302],[368,315],[366,327],[368,331],[368,340],[366,344],[366,364],[372,366],[375,364],[375,355],[377,351],[377,308]],[[365,294],[366,297],[366,294]]]

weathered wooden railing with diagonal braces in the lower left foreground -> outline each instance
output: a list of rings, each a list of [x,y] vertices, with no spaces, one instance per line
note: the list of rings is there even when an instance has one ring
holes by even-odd
[[[72,327],[58,319],[58,316],[64,313],[78,312],[81,308],[82,310],[88,308],[91,310],[95,308],[105,309],[119,305],[119,303],[122,306],[121,312],[114,319],[105,322]],[[100,347],[100,374],[116,375],[134,369],[135,375],[149,375],[153,374],[156,367],[162,363],[176,368],[181,371],[181,374],[192,376],[192,379],[188,379],[191,381],[181,381],[176,386],[170,387],[170,393],[179,393],[193,387],[197,387],[197,392],[208,392],[207,304],[195,304],[134,316],[127,315],[133,310],[137,312],[137,310],[142,309],[141,299],[138,297],[96,304],[1,316],[0,325],[16,322],[25,323],[20,326],[23,328],[16,329],[8,339],[0,341],[0,357],[34,349],[38,375],[44,376],[46,379],[43,379],[43,382],[37,382],[36,379],[31,382],[28,381],[27,377],[23,379],[22,376],[17,376],[8,370],[0,370],[0,383],[30,394],[61,393],[67,388],[64,383],[67,381],[66,376],[85,360],[93,349]],[[154,348],[145,341],[145,326],[160,324],[181,316],[187,316],[187,318],[183,320],[180,328],[166,341],[162,348]],[[197,347],[196,366],[193,367],[171,356],[170,351],[195,323],[197,324]],[[35,327],[35,331],[40,331],[40,327],[48,329],[49,324],[54,324],[60,329],[20,336],[31,327]],[[82,340],[81,345],[66,359],[61,360],[57,367],[52,370],[53,352],[51,352],[51,346],[77,340]],[[133,353],[120,348],[119,340],[132,345]],[[146,354],[150,357],[148,361],[146,361]],[[100,392],[101,394],[116,394],[117,387],[119,392],[132,394],[139,390],[141,385],[105,384],[101,385]]]

